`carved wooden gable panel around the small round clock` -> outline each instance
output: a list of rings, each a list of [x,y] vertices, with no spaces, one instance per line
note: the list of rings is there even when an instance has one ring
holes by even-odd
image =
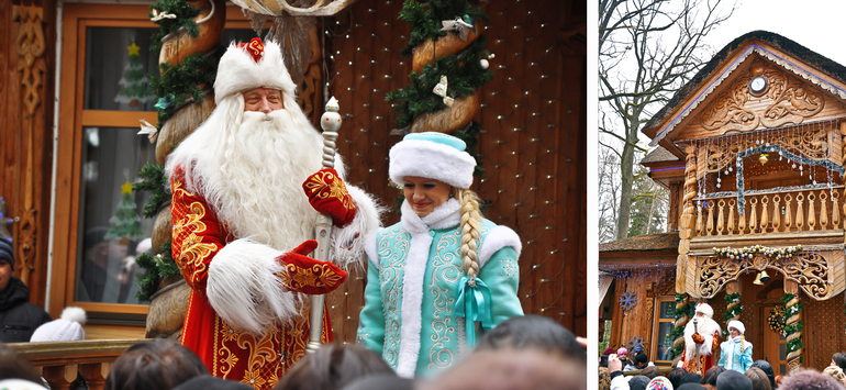
[[[761,101],[754,101],[757,93],[749,88],[749,81],[764,77],[767,87]],[[759,107],[766,104],[764,108]],[[756,60],[747,75],[735,79],[728,90],[720,93],[700,115],[700,123],[705,130],[750,131],[759,125],[778,127],[798,124],[820,113],[825,107],[823,93],[802,82],[797,77],[762,60]]]

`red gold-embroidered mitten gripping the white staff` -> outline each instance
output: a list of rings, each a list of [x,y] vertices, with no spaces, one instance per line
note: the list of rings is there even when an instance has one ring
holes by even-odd
[[[302,183],[314,210],[332,216],[332,222],[344,226],[356,216],[356,205],[344,181],[333,168],[321,169]]]

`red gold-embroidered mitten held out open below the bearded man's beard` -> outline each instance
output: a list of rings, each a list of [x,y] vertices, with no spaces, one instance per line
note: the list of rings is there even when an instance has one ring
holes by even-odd
[[[308,239],[276,260],[287,272],[280,275],[282,287],[308,294],[334,291],[346,280],[346,271],[331,261],[320,261],[307,256],[318,247],[318,242]]]

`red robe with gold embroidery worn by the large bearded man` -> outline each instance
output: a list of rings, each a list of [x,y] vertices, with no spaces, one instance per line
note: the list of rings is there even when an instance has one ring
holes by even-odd
[[[232,328],[209,303],[205,287],[210,263],[224,245],[236,237],[227,232],[225,223],[218,219],[205,199],[186,189],[181,171],[174,175],[171,189],[172,256],[191,287],[180,343],[200,356],[213,376],[241,381],[256,389],[271,389],[305,352],[310,300],[299,300],[302,302],[298,304],[301,315],[278,322],[271,332],[252,334]],[[286,266],[289,272],[296,274],[291,267],[296,266]],[[324,272],[316,278],[320,281],[343,282],[343,278],[324,278],[331,272],[326,267],[319,272]],[[283,280],[288,285],[312,281],[308,278]],[[282,287],[294,290],[291,286]],[[322,343],[332,342],[331,328],[329,311],[324,305]]]

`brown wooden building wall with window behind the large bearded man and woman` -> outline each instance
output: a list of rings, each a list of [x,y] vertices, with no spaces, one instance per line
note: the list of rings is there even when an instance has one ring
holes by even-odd
[[[133,300],[137,286],[126,282],[131,274],[115,278],[120,282],[107,286],[110,293],[102,297],[86,294],[82,279],[86,248],[126,200],[123,185],[136,181],[140,168],[156,158],[155,146],[135,134],[141,120],[155,124],[155,99],[130,92],[125,100],[121,89],[148,82],[143,74],[157,70],[158,58],[149,52],[158,29],[147,15],[152,3],[0,3],[0,197],[8,203],[3,218],[13,221],[8,229],[15,275],[30,287],[31,301],[54,317],[68,305],[85,308],[88,338],[143,337],[149,310]],[[587,335],[586,231],[566,223],[586,218],[586,4],[533,0],[481,7],[490,15],[481,33],[496,59],[475,118],[482,129],[478,151],[485,169],[476,190],[490,202],[486,215],[523,241],[524,310]],[[223,8],[222,41],[255,36],[238,7]],[[315,121],[325,94],[339,100],[345,115],[339,153],[349,165],[349,181],[387,205],[399,196],[388,181],[387,155],[401,136],[391,135],[396,113],[385,94],[407,86],[411,73],[410,60],[399,54],[410,31],[397,18],[401,8],[402,1],[358,0],[335,16],[318,18],[300,85],[302,105]],[[131,196],[141,214],[147,196]],[[397,221],[394,213],[383,219]],[[145,236],[154,227],[147,219],[138,224]],[[144,250],[141,244],[104,250],[110,258],[131,258]],[[109,275],[126,264],[112,264]],[[341,339],[354,339],[363,290],[358,274],[329,297]]]

